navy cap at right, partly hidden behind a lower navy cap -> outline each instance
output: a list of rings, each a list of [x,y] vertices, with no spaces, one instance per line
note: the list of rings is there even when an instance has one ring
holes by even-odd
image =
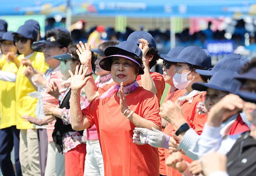
[[[241,54],[228,54],[223,59],[219,60],[212,70],[200,70],[196,69],[196,73],[203,75],[204,77],[210,78],[219,70],[232,70],[239,72],[241,68],[249,60]]]

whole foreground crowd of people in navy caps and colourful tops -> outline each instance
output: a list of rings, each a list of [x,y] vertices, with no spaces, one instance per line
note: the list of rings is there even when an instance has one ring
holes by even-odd
[[[256,58],[212,66],[193,45],[163,55],[146,31],[75,43],[61,27],[40,38],[34,20],[2,29],[4,176],[255,175]]]

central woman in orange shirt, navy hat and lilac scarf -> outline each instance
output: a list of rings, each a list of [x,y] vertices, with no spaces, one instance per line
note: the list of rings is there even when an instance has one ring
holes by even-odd
[[[158,99],[136,81],[137,75],[144,73],[142,57],[147,50],[144,39],[140,47],[128,41],[107,47],[104,51],[107,57],[100,61],[100,67],[111,71],[116,84],[83,110],[78,95],[92,77],[87,77],[91,74],[86,75],[88,68],[83,70],[82,66],[76,68],[75,75],[70,71],[71,124],[75,130],[96,125],[105,176],[159,176],[158,150],[149,145],[136,145],[132,140],[135,127],[161,129]]]

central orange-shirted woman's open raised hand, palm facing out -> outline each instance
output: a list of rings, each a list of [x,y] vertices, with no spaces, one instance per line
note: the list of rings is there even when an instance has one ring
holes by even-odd
[[[72,71],[68,70],[70,76],[71,76],[71,89],[75,91],[80,91],[84,85],[86,85],[86,82],[89,80],[89,78],[92,78],[91,76],[86,76],[86,73],[88,71],[88,67],[84,67],[82,64],[79,68],[77,65],[75,68],[75,74],[72,73]]]

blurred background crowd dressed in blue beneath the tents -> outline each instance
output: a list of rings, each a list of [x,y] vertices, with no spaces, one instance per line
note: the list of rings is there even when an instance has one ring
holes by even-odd
[[[88,42],[88,38],[93,33],[97,26],[94,26],[88,30],[86,30],[86,21],[81,19],[77,23],[81,25],[79,29],[74,29],[71,31],[71,37],[75,42]],[[175,33],[175,43],[176,45],[188,47],[190,45],[203,47],[205,48],[208,42],[212,41],[233,41],[233,50],[237,49],[239,46],[245,46],[246,51],[249,53],[254,53],[254,47],[256,45],[256,33],[255,33],[255,25],[248,29],[248,25],[246,25],[243,19],[240,20],[232,20],[231,24],[226,24],[226,29],[224,30],[216,30],[216,24],[212,24],[209,21],[208,26],[204,30],[194,31],[191,34],[189,28],[185,28],[181,32]],[[251,24],[252,25],[252,24]],[[247,27],[247,28],[246,28]],[[80,29],[81,28],[81,29]],[[213,30],[215,29],[215,30]],[[143,26],[141,26],[141,30],[143,30]],[[127,26],[124,33],[116,31],[112,27],[107,27],[105,29],[106,35],[104,36],[105,40],[119,40],[125,41],[128,36],[134,32],[132,27]],[[160,28],[156,28],[154,30],[148,31],[155,39],[156,45],[158,47],[158,51],[163,54],[167,54],[170,50],[170,30],[163,30]],[[228,34],[228,35],[226,35]],[[229,36],[230,35],[230,36]],[[247,42],[245,42],[247,41]],[[246,44],[246,45],[245,45]],[[249,54],[248,54],[249,55]]]

